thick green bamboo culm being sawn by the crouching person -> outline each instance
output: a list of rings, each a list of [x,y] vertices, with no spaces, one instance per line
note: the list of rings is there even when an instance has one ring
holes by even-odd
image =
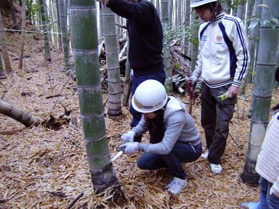
[[[83,137],[93,188],[118,184],[107,144],[98,59],[96,1],[70,0],[73,55]]]

